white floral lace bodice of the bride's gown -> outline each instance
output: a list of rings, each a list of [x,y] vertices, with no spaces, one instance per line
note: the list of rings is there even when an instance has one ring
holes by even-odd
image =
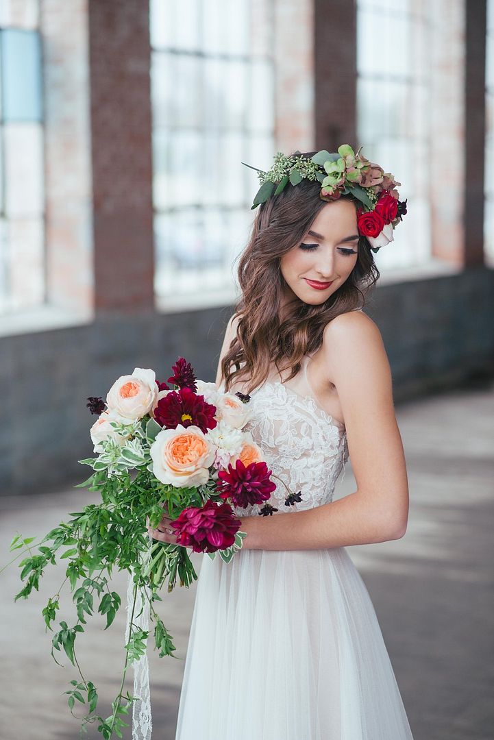
[[[309,355],[289,383],[268,380],[251,392],[252,417],[244,429],[263,450],[277,488],[263,504],[235,508],[237,516],[260,514],[266,503],[276,514],[303,511],[332,501],[336,480],[348,460],[345,425],[331,417],[314,397],[307,378]],[[231,392],[240,390],[235,386]],[[285,505],[288,493],[301,501]]]

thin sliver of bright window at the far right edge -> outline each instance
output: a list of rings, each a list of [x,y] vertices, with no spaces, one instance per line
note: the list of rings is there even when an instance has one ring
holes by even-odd
[[[494,267],[494,0],[487,1],[485,95],[484,245],[486,263]]]

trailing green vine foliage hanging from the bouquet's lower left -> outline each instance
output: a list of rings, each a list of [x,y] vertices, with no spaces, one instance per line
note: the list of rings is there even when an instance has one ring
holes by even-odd
[[[70,689],[65,692],[71,713],[75,705],[84,706],[82,727],[96,722],[98,732],[105,740],[109,740],[115,735],[121,737],[122,729],[129,724],[124,721],[124,715],[129,714],[134,699],[128,692],[124,693],[126,671],[146,649],[148,632],[135,624],[137,615],[134,616],[134,610],[138,594],[149,602],[155,649],[160,657],[177,658],[173,654],[176,650],[173,637],[156,612],[155,601],[161,600],[158,592],[166,580],[168,591],[175,587],[177,578],[180,586],[186,587],[197,580],[187,548],[159,541],[150,545],[146,522],[149,520],[153,527],[158,525],[165,502],[172,518],[183,508],[184,502],[186,505],[202,506],[204,492],[200,487],[180,488],[178,491],[172,485],[163,485],[146,468],[119,471],[118,476],[109,475],[108,469],[95,470],[78,487],[98,491],[101,503],[89,504],[81,511],[70,514],[72,518],[67,523],[62,522],[50,531],[38,545],[34,544],[33,537],[22,539],[18,534],[13,538],[10,551],[16,553],[13,561],[21,558],[20,576],[24,582],[15,599],[27,599],[33,589],[38,591],[39,581],[48,565],[67,561],[64,581],[58,592],[47,600],[42,616],[46,630],[53,632],[53,659],[58,663],[55,653],[65,653],[78,670],[78,679],[72,679]],[[177,508],[179,503],[180,510]],[[149,563],[139,565],[142,562],[141,555],[148,552],[150,546]],[[104,617],[104,630],[115,619],[121,606],[120,596],[109,585],[115,570],[132,572],[133,606],[120,689],[112,702],[112,713],[103,717],[98,714],[98,690],[79,665],[75,644],[78,635],[84,632],[89,617],[96,614]],[[64,587],[70,588],[72,593],[75,615],[72,624],[61,621],[56,628]]]

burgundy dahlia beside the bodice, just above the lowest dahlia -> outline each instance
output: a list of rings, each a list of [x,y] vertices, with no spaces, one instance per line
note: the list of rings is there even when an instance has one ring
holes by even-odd
[[[235,506],[246,508],[249,504],[260,504],[270,497],[276,483],[269,480],[271,471],[265,462],[250,462],[247,467],[240,457],[235,467],[229,463],[228,470],[218,471],[217,483],[222,499],[231,498]]]

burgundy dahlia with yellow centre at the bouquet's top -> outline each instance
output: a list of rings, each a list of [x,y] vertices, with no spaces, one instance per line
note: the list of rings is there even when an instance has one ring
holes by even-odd
[[[191,388],[170,391],[160,398],[154,411],[155,420],[166,429],[176,429],[179,424],[194,425],[204,434],[217,425],[214,414],[216,406],[207,403],[204,396],[197,396]]]

